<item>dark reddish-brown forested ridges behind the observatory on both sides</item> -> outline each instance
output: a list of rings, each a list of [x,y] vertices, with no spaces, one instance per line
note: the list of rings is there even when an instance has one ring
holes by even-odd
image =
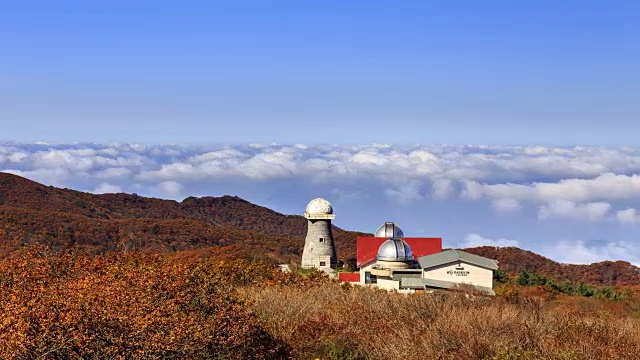
[[[304,217],[280,214],[235,196],[189,197],[177,202],[136,194],[95,195],[0,172],[0,249],[4,255],[26,244],[41,243],[53,251],[92,253],[213,247],[228,257],[299,261],[305,234]],[[335,226],[333,234],[342,260],[355,257],[358,236],[370,236]],[[514,273],[536,270],[559,280],[640,285],[640,268],[624,261],[568,265],[513,247],[465,250],[496,259],[501,268]]]

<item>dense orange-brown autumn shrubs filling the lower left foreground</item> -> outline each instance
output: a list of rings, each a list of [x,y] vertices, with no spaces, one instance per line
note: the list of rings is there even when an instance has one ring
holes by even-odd
[[[230,290],[236,265],[37,251],[0,262],[0,358],[286,357]],[[260,272],[243,265],[239,277]]]

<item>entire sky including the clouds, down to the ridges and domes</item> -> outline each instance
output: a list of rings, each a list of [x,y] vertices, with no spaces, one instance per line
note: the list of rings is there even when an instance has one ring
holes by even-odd
[[[639,39],[638,1],[3,1],[0,171],[640,264]]]

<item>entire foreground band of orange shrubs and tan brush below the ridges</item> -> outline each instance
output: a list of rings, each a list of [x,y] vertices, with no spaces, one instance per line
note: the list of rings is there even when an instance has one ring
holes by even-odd
[[[211,249],[0,260],[0,358],[629,359],[640,302],[401,295]],[[526,290],[526,289],[523,289]],[[537,290],[540,292],[540,290]]]

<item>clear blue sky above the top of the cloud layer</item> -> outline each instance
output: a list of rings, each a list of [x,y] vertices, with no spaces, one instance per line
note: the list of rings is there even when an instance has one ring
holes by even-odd
[[[638,39],[637,1],[5,1],[0,139],[635,145]]]

